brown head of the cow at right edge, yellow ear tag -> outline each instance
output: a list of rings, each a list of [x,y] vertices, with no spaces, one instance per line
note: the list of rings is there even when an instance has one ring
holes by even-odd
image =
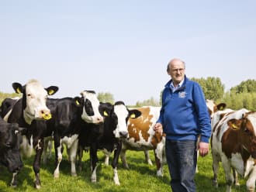
[[[240,132],[242,146],[256,159],[256,111],[248,111],[240,119],[232,118],[227,125],[230,129]]]

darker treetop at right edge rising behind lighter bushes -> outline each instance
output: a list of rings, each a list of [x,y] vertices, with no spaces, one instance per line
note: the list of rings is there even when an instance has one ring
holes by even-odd
[[[256,93],[256,81],[251,79],[248,79],[247,81],[242,81],[236,87],[232,87],[230,91],[236,94]]]

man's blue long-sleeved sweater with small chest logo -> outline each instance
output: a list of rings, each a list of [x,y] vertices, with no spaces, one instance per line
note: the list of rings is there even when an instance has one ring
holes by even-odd
[[[171,81],[164,87],[162,107],[157,122],[163,125],[167,139],[209,142],[211,123],[202,88],[185,77],[181,87],[171,91]]]

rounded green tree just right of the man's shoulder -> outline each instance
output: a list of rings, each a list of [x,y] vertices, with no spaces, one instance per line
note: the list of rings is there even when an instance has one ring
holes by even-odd
[[[207,77],[206,79],[192,77],[191,80],[200,84],[206,98],[216,101],[223,97],[224,84],[221,83],[219,77]]]

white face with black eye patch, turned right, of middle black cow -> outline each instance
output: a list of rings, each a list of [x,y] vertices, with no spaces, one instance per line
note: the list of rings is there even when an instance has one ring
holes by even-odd
[[[99,124],[103,122],[103,117],[99,113],[99,99],[94,91],[82,91],[81,96],[84,98],[84,108],[81,118],[88,123]]]

